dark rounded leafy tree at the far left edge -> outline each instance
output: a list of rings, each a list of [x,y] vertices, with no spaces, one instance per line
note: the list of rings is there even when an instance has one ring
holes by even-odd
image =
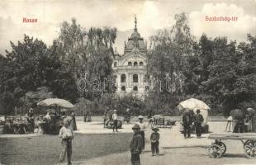
[[[14,106],[21,106],[19,98],[28,91],[42,85],[38,70],[39,58],[47,53],[46,45],[41,40],[34,40],[24,35],[23,42],[17,45],[11,42],[12,51],[6,54],[1,69],[2,106],[6,112]]]

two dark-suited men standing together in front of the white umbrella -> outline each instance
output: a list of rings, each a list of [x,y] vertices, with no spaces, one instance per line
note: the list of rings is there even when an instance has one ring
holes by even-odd
[[[201,137],[201,123],[203,122],[204,118],[200,114],[200,110],[197,109],[197,114],[194,114],[193,111],[189,111],[183,115],[183,134],[184,138],[190,138],[192,132],[192,124],[195,125],[197,138]]]

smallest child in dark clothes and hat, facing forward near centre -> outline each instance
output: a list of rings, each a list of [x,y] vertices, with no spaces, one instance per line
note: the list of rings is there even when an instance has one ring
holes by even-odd
[[[150,141],[151,141],[152,156],[154,156],[154,153],[159,155],[159,138],[160,138],[160,134],[158,133],[159,128],[153,127],[152,130],[154,132],[150,136]]]

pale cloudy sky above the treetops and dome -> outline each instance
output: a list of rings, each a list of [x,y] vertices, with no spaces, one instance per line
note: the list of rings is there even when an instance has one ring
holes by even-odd
[[[256,0],[0,0],[0,54],[10,50],[10,40],[17,43],[24,34],[52,45],[61,23],[73,17],[86,29],[116,27],[116,49],[121,54],[135,15],[145,40],[154,31],[173,26],[175,14],[185,12],[197,40],[205,33],[240,42],[248,33],[256,35],[255,9]],[[235,16],[237,21],[206,21],[206,16]],[[24,23],[24,17],[37,22]]]

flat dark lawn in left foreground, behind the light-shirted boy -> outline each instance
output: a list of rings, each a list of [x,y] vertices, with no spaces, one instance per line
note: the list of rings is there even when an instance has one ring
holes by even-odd
[[[101,157],[129,150],[132,134],[75,134],[73,161]],[[2,164],[55,164],[59,161],[61,139],[57,135],[29,138],[1,138]]]

